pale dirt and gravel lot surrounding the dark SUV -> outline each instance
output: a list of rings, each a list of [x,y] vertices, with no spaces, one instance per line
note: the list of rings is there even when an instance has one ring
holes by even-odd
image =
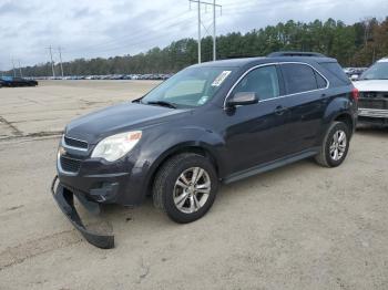
[[[112,206],[116,248],[85,242],[54,204],[59,134],[147,81],[0,89],[0,289],[388,289],[388,132],[355,135],[343,166],[312,160],[224,186],[201,220],[151,200]]]

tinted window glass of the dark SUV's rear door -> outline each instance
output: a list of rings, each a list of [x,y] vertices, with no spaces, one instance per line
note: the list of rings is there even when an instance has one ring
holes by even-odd
[[[317,90],[315,71],[300,63],[284,63],[280,65],[287,94]]]

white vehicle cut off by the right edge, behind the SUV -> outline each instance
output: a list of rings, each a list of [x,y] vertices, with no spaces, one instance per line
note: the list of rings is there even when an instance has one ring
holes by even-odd
[[[359,91],[358,121],[388,125],[388,58],[377,61],[354,85]]]

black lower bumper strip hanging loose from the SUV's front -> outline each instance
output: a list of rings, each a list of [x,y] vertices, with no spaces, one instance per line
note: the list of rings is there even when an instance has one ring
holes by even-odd
[[[82,236],[95,247],[102,249],[111,249],[114,247],[114,236],[113,235],[102,235],[90,231],[83,225],[76,209],[74,207],[74,195],[79,201],[89,210],[93,213],[100,213],[100,206],[96,203],[88,200],[85,197],[72,193],[71,190],[64,188],[61,183],[57,183],[58,176],[52,182],[51,193],[62,213],[67,216],[70,222],[82,234]],[[57,185],[58,184],[58,185]],[[55,188],[57,185],[57,188]]]

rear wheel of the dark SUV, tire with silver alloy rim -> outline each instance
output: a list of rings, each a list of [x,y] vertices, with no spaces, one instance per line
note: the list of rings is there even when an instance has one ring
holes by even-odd
[[[325,167],[339,166],[348,154],[349,141],[349,127],[343,122],[333,122],[327,130],[319,153],[315,156],[315,160]]]

